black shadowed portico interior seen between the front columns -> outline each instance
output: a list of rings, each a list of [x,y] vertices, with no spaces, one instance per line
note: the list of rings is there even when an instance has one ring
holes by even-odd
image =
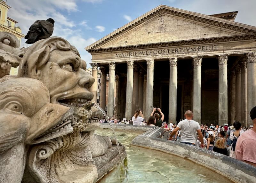
[[[240,56],[228,57],[228,123],[230,123],[230,73]],[[193,59],[178,59],[177,62],[177,121],[184,119],[187,110],[193,111]],[[147,73],[146,61],[134,62],[139,72]],[[202,61],[201,123],[218,124],[219,66],[217,57],[204,57]],[[118,88],[116,89],[116,117],[125,117],[126,62],[116,64]],[[153,106],[160,107],[164,121],[168,121],[169,110],[169,59],[155,60]],[[134,81],[138,82],[138,81]],[[139,86],[143,87],[143,86]],[[134,114],[134,111],[132,111]],[[133,115],[132,114],[132,115]],[[174,123],[174,122],[173,122]]]

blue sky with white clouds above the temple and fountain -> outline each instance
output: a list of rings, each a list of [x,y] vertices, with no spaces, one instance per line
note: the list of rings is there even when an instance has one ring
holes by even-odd
[[[203,14],[239,11],[236,22],[256,26],[256,0],[8,0],[8,17],[27,34],[36,20],[55,20],[52,36],[68,40],[90,67],[84,48],[160,4]],[[28,47],[24,38],[21,47]]]

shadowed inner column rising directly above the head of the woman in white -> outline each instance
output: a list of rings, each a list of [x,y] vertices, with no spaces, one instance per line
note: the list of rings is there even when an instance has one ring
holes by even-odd
[[[132,113],[139,108],[139,68],[133,66],[133,92],[132,92]]]

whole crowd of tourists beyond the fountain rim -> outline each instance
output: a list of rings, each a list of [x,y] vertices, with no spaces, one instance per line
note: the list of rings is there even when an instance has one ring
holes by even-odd
[[[161,118],[160,118],[161,115]],[[248,129],[236,121],[233,125],[210,126],[201,124],[193,120],[192,111],[186,111],[185,119],[180,120],[176,125],[172,121],[164,122],[164,114],[160,108],[154,108],[150,117],[146,121],[141,110],[136,110],[132,120],[124,118],[111,118],[114,124],[148,125],[164,128],[169,132],[169,140],[178,140],[180,143],[205,148],[232,158],[239,159],[256,166],[256,106],[252,108],[250,116],[253,127]],[[107,123],[105,119],[100,123]]]

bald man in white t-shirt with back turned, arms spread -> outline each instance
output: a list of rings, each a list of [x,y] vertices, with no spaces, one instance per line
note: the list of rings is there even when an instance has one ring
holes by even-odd
[[[200,147],[204,147],[203,134],[201,132],[201,128],[200,128],[199,123],[192,120],[192,118],[193,118],[192,111],[186,111],[185,118],[186,119],[182,120],[177,125],[177,127],[172,131],[172,133],[169,137],[169,140],[172,140],[173,135],[181,129],[182,132],[181,132],[180,142],[195,146],[196,137],[197,137],[196,131],[197,131],[198,136],[199,136],[199,140],[201,142]]]

